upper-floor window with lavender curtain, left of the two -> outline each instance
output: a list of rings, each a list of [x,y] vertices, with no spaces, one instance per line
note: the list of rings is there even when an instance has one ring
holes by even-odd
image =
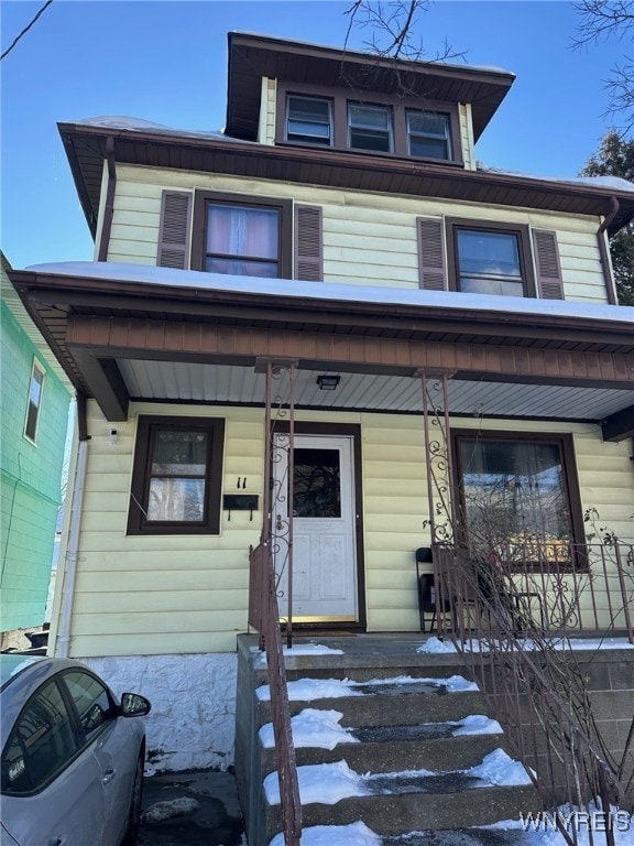
[[[292,246],[289,200],[195,193],[193,270],[289,279]]]

